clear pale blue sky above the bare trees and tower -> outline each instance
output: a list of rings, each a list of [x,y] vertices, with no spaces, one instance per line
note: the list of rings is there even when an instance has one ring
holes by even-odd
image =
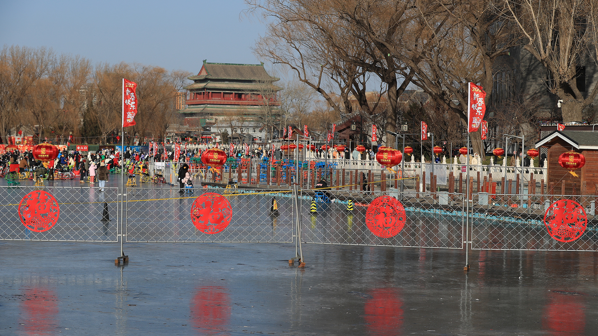
[[[242,0],[0,0],[0,45],[194,73],[204,59],[257,64],[251,47],[265,26],[245,8]]]

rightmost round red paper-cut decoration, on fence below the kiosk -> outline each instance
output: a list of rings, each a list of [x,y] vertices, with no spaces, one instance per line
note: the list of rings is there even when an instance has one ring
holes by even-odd
[[[553,239],[573,242],[581,237],[587,227],[588,216],[584,207],[573,200],[558,200],[544,213],[544,225]]]

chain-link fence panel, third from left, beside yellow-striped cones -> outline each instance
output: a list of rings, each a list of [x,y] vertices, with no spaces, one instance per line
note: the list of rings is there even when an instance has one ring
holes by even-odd
[[[431,194],[303,190],[301,239],[304,243],[461,249],[462,204],[440,203]]]

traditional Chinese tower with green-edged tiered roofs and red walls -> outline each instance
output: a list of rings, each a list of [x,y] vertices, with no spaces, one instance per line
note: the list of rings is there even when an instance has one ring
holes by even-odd
[[[267,74],[264,63],[208,63],[204,60],[199,74],[188,78],[194,83],[185,87],[187,108],[179,111],[185,115],[188,126],[225,116],[244,116],[257,121],[264,113],[264,106],[274,113],[279,111],[276,93],[282,88],[273,84],[279,78]]]

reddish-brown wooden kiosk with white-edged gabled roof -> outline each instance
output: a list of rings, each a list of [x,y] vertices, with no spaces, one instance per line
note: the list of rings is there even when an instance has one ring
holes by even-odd
[[[598,191],[598,132],[554,131],[536,142],[536,148],[547,148],[547,194],[595,195]],[[585,166],[575,171],[579,178],[561,167],[563,152],[579,152]]]

